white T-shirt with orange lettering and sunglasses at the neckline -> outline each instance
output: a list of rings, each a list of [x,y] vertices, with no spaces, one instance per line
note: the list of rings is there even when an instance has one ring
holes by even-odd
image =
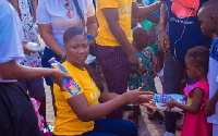
[[[77,0],[82,13],[84,13],[84,20],[87,22],[87,17],[90,17],[95,14],[95,9],[92,0]],[[36,23],[37,24],[51,24],[52,36],[60,45],[62,50],[63,48],[63,33],[66,28],[72,26],[81,26],[84,28],[82,20],[76,12],[76,8],[73,3],[73,0],[69,0],[72,4],[71,10],[66,10],[64,4],[65,0],[39,0],[36,11]],[[69,18],[66,16],[68,11],[73,11],[73,17]]]

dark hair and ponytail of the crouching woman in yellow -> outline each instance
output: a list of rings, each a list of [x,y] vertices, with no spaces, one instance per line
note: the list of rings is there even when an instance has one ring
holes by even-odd
[[[86,33],[84,33],[84,30],[81,27],[73,26],[73,27],[68,28],[63,34],[63,42],[64,42],[64,45],[66,45],[70,41],[70,39],[72,39],[76,35],[84,35],[85,37],[87,37]],[[102,86],[102,84],[100,82],[99,74],[88,64],[84,64],[84,67],[86,69],[86,71],[88,72],[88,74],[90,75],[93,81],[95,82],[95,84],[98,87],[98,89],[102,92],[104,91],[104,86]]]

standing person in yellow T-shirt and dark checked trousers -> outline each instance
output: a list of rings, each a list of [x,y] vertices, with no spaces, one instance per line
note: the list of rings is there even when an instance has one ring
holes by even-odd
[[[138,65],[136,50],[132,46],[131,17],[146,16],[160,7],[138,8],[136,0],[96,0],[99,29],[95,55],[102,69],[110,92],[123,94],[128,89],[130,63]],[[122,119],[123,107],[107,118]]]

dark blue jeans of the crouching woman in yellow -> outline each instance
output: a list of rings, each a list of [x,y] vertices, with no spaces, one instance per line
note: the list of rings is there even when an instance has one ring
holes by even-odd
[[[126,120],[100,119],[95,121],[92,132],[82,136],[137,136],[137,126]]]

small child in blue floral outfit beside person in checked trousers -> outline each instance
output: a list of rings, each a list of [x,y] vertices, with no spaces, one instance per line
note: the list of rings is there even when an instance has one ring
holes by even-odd
[[[138,55],[138,67],[131,67],[129,78],[129,89],[138,89],[143,91],[156,92],[154,82],[154,66],[153,66],[153,51],[148,47],[149,45],[149,33],[143,27],[136,27],[133,30],[133,46],[137,51]],[[148,109],[148,119],[153,120],[156,118],[156,112]],[[133,106],[133,119],[132,121],[138,126],[140,106]],[[158,114],[160,116],[160,114]],[[164,118],[164,116],[161,116]]]

